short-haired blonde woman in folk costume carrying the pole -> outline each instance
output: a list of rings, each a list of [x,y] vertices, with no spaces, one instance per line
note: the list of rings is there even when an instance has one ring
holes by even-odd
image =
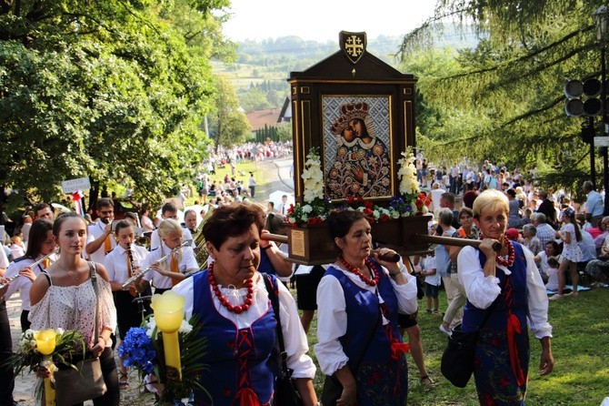
[[[474,200],[474,223],[484,239],[479,249],[464,247],[457,259],[467,296],[462,330],[480,328],[474,381],[484,406],[524,405],[530,356],[527,320],[542,345],[540,373],[554,367],[544,282],[531,251],[505,237],[508,212],[504,193],[489,189],[480,194]],[[493,249],[496,241],[502,244],[499,252]]]

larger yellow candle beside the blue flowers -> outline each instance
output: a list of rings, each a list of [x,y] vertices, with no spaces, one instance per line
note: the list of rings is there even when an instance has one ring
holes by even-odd
[[[184,320],[184,303],[184,296],[178,295],[173,290],[167,290],[162,295],[154,295],[151,306],[155,311],[156,327],[163,331],[165,364],[178,370],[180,379],[182,379],[182,363],[177,330]]]

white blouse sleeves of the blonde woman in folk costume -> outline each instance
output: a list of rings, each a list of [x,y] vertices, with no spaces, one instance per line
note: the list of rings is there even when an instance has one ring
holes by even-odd
[[[542,280],[533,259],[533,253],[523,249],[526,259],[526,298],[529,312],[527,318],[529,327],[534,332],[535,338],[543,339],[552,337],[552,326],[548,323],[548,297],[545,293],[544,281]],[[478,250],[474,247],[464,247],[457,257],[457,276],[464,286],[467,299],[478,309],[488,309],[494,299],[501,293],[499,278],[484,277],[480,266]],[[497,265],[505,275],[510,275],[509,269]]]

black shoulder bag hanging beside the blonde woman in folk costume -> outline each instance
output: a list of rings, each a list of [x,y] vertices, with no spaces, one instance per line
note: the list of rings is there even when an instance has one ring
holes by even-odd
[[[509,278],[505,275],[504,286],[502,287],[501,295],[505,289],[505,281]],[[448,381],[458,388],[464,388],[467,382],[474,373],[474,355],[475,346],[478,342],[480,329],[484,327],[486,321],[493,313],[494,307],[500,300],[495,299],[493,304],[486,310],[484,320],[480,323],[475,331],[465,332],[461,330],[462,325],[459,324],[453,330],[453,333],[448,337],[448,345],[442,354],[442,362],[440,370]]]

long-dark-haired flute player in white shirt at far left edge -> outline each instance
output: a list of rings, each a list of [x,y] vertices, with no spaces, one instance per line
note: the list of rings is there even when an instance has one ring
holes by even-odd
[[[55,260],[55,240],[53,239],[53,222],[46,218],[35,220],[30,228],[29,243],[25,256],[15,259],[5,274],[5,281],[0,283],[0,296],[10,299],[15,292],[21,297],[21,330],[30,328],[27,315],[30,312],[30,288],[32,282],[40,273],[47,269]],[[3,292],[4,290],[4,292]]]

